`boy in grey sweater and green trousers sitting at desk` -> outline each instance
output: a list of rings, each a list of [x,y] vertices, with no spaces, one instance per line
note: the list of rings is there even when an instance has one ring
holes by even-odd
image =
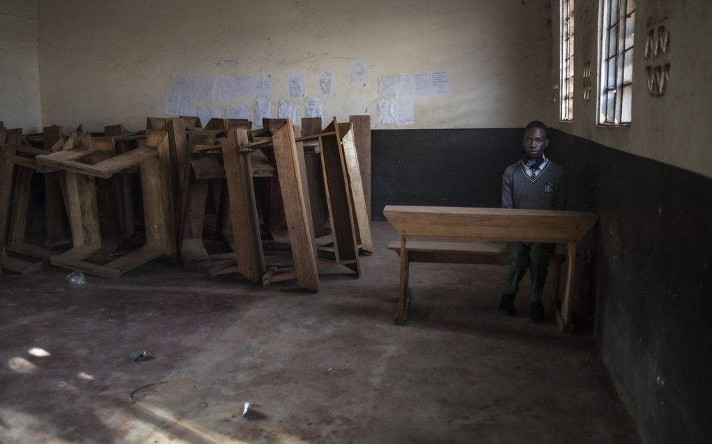
[[[549,130],[535,120],[524,130],[522,157],[504,170],[502,207],[528,210],[563,210],[566,204],[564,170],[545,156]],[[543,242],[508,242],[509,272],[507,288],[499,310],[514,315],[514,298],[527,269],[532,283],[527,318],[535,322],[544,317],[541,301],[549,259],[556,244]]]

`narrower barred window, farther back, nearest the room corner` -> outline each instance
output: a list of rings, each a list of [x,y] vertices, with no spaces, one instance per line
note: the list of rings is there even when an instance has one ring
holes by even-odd
[[[561,0],[560,119],[574,119],[574,0]]]

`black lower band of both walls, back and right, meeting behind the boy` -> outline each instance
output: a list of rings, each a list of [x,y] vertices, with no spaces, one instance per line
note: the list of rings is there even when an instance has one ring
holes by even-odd
[[[522,129],[372,131],[372,215],[384,205],[498,207]],[[671,147],[674,149],[674,147]],[[712,442],[712,179],[552,132],[582,242],[577,325],[647,443]],[[580,272],[579,271],[579,272]]]

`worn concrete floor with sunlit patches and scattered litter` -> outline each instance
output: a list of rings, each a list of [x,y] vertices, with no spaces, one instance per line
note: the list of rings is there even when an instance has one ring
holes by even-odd
[[[0,276],[0,442],[638,441],[590,337],[498,313],[501,266],[416,264],[393,325],[397,236],[373,229],[362,277],[317,294],[167,261],[80,287]]]

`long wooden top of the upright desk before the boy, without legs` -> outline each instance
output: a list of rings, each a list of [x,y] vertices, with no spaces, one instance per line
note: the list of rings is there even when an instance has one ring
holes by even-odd
[[[383,215],[400,234],[520,242],[582,239],[598,217],[590,212],[387,205]]]

